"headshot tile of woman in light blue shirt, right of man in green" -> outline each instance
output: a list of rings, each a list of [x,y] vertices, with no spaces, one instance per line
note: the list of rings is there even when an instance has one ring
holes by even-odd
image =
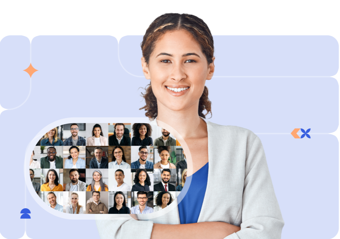
[[[85,169],[85,146],[64,146],[64,169]]]

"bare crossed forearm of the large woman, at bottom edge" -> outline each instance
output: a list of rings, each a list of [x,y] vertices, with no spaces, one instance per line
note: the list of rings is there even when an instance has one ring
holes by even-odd
[[[241,230],[241,227],[226,222],[198,222],[191,224],[153,224],[151,239],[158,239],[166,233],[175,238],[199,239],[214,238],[223,239]]]

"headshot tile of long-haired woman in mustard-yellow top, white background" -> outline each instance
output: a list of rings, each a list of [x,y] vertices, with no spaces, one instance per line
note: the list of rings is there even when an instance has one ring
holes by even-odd
[[[63,191],[63,169],[41,169],[40,191]]]

